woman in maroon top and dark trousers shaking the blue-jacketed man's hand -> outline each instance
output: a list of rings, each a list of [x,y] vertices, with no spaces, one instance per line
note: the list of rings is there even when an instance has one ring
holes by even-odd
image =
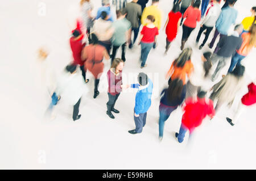
[[[111,68],[109,69],[107,75],[108,75],[108,82],[109,82],[109,89],[108,89],[108,96],[109,101],[106,103],[106,106],[108,108],[108,111],[106,111],[106,114],[114,119],[114,113],[119,113],[118,110],[115,110],[115,102],[117,102],[117,99],[122,91],[122,70],[123,70],[123,61],[121,58],[115,58]]]

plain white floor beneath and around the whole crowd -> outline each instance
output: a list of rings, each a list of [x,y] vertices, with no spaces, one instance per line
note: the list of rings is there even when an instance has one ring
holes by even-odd
[[[101,1],[93,0],[92,3],[95,13]],[[237,23],[250,15],[254,3],[253,0],[237,2]],[[162,0],[160,8],[165,21],[172,1]],[[80,120],[73,122],[72,107],[61,102],[55,110],[56,119],[43,120],[49,97],[45,94],[46,87],[40,82],[36,50],[41,46],[49,49],[49,61],[58,75],[72,61],[68,39],[77,16],[79,0],[12,0],[1,3],[1,169],[256,169],[255,107],[247,108],[234,127],[226,122],[225,117],[232,113],[236,104],[232,110],[223,107],[212,121],[205,120],[196,129],[190,145],[187,145],[187,137],[183,144],[174,138],[181,123],[179,108],[166,121],[163,141],[158,141],[159,91],[166,85],[164,75],[171,62],[180,53],[182,28],[167,56],[163,56],[165,32],[160,31],[159,46],[150,52],[148,67],[143,69],[150,75],[155,90],[147,124],[141,134],[127,132],[135,127],[135,91],[123,92],[119,96],[116,108],[121,113],[115,115],[115,120],[106,115],[106,76],[102,76],[101,94],[96,100],[92,98],[93,91],[83,96]],[[193,48],[195,66],[201,55],[195,47],[198,31],[199,26],[185,45]],[[212,34],[209,41],[211,37]],[[205,46],[203,50],[207,49]],[[139,52],[139,46],[127,50],[123,72],[129,77],[124,77],[123,83],[132,83],[142,71],[138,64]],[[255,56],[254,49],[243,60],[246,83],[256,78]],[[105,73],[109,64],[105,64]],[[88,73],[88,77],[88,86],[93,90],[92,75]],[[245,92],[246,87],[240,94]]]

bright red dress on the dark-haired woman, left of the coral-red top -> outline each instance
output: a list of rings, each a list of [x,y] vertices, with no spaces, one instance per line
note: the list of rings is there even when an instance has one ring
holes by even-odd
[[[172,41],[175,39],[177,35],[177,22],[179,21],[182,15],[180,12],[171,11],[168,16],[169,16],[169,21],[166,26],[166,35],[167,35],[167,40]]]

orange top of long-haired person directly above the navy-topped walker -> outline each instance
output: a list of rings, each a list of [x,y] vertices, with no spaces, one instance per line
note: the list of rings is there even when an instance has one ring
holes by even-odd
[[[194,66],[191,62],[191,60],[188,60],[183,68],[177,67],[174,65],[174,62],[172,62],[171,68],[167,72],[166,78],[171,76],[171,79],[174,80],[176,78],[181,79],[183,81],[183,85],[186,83],[186,74],[188,77],[190,77],[192,71],[194,70]]]

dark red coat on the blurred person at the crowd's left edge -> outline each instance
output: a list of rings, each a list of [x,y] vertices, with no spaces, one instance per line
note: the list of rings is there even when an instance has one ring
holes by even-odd
[[[85,46],[85,43],[82,44],[82,37],[78,40],[74,40],[75,37],[71,37],[69,40],[70,47],[73,52],[74,64],[80,65],[80,66],[84,65],[84,61],[82,61],[81,59],[81,53],[82,53],[82,48],[84,48]]]

